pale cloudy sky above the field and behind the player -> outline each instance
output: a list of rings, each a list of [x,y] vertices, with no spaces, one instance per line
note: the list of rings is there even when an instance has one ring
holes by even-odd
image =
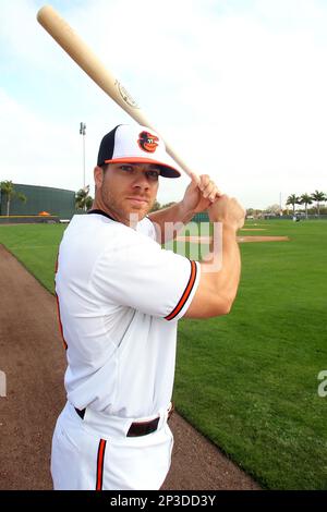
[[[50,0],[182,159],[250,208],[327,193],[327,0]],[[134,123],[37,23],[0,0],[0,181],[77,191]],[[158,200],[190,179],[160,178]]]

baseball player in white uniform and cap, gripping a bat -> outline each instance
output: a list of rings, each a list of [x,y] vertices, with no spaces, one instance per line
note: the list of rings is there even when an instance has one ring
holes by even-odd
[[[99,147],[93,208],[64,232],[56,293],[68,402],[53,432],[55,489],[159,489],[169,471],[178,320],[230,310],[244,221],[207,175],[181,203],[148,215],[159,176],[179,175],[158,134],[116,126]],[[223,227],[215,271],[160,245],[165,222],[206,209]]]

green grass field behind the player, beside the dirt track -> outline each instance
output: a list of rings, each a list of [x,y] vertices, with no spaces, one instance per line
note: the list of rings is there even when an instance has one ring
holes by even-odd
[[[255,224],[290,242],[241,244],[232,313],[180,321],[174,401],[264,487],[327,489],[327,222]],[[0,227],[0,243],[53,292],[63,229]]]

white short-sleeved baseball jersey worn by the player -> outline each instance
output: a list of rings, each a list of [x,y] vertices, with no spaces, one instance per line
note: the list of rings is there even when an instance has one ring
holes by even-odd
[[[75,216],[64,232],[56,293],[68,400],[80,410],[137,418],[171,400],[178,319],[199,265],[155,236],[147,218],[134,230],[102,214]]]

